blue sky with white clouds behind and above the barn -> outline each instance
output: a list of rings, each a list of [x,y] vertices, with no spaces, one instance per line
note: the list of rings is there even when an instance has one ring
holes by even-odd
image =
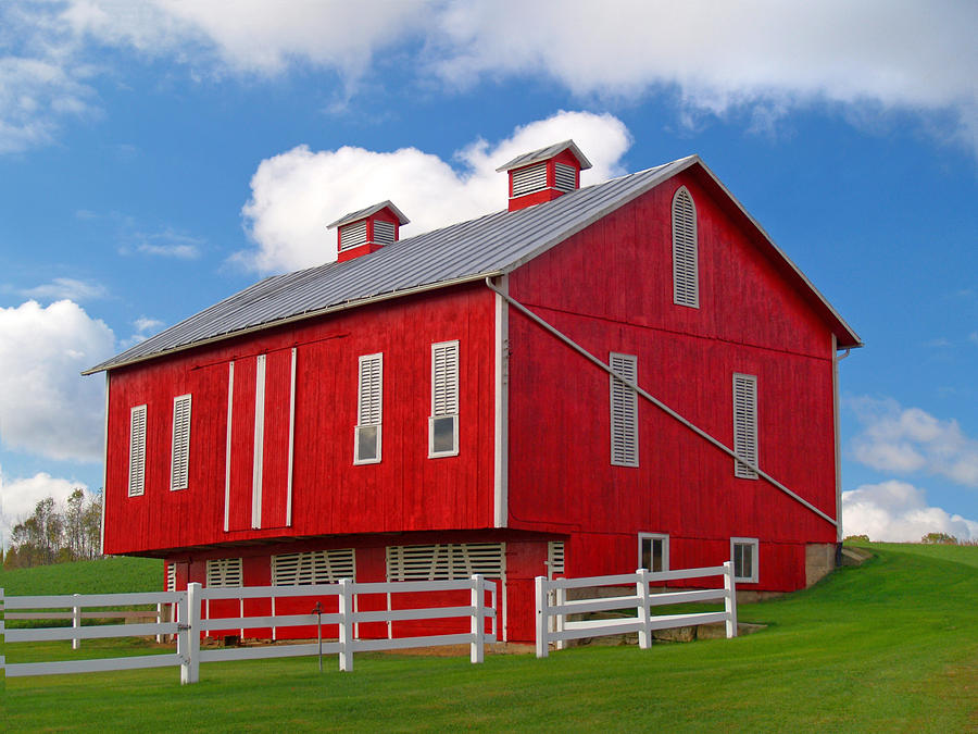
[[[978,5],[808,4],[3,3],[0,528],[101,486],[80,370],[573,137],[585,184],[699,153],[862,336],[847,533],[978,538]]]

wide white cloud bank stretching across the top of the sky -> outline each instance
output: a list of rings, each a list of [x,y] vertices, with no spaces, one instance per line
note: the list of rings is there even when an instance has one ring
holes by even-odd
[[[348,92],[397,58],[422,84],[529,76],[580,96],[666,92],[680,121],[747,111],[755,128],[813,104],[840,105],[855,121],[900,110],[924,113],[935,130],[950,120],[941,135],[978,152],[974,2],[4,4],[0,26],[26,40],[0,58],[0,151],[43,142],[62,119],[90,110],[92,76],[105,73],[97,49],[110,46],[175,59],[195,78],[325,70]]]

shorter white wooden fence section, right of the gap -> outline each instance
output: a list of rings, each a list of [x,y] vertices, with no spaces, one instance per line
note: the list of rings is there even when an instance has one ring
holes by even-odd
[[[723,576],[722,588],[695,589],[689,592],[650,593],[650,584],[684,579],[703,579]],[[630,596],[588,598],[567,600],[567,589],[591,588],[599,586],[635,585],[636,593]],[[659,571],[652,573],[639,569],[635,573],[612,576],[588,576],[585,579],[554,579],[546,576],[536,579],[537,597],[537,657],[546,658],[550,643],[556,643],[557,649],[564,647],[565,640],[581,637],[602,637],[637,632],[639,647],[648,649],[652,644],[653,630],[668,630],[693,624],[725,622],[727,637],[737,636],[737,596],[734,585],[734,563],[727,561],[723,565],[705,569],[685,569],[680,571]],[[724,611],[695,612],[688,614],[651,613],[652,607],[686,604],[690,601],[724,601]],[[616,619],[592,619],[569,621],[569,614],[589,612],[636,609],[636,617]],[[551,620],[553,623],[551,623]]]

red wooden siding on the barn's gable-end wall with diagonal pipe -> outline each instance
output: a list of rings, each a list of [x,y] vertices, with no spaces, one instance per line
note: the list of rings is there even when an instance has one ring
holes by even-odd
[[[673,303],[681,185],[698,213],[698,309]],[[835,515],[831,333],[750,236],[680,175],[516,271],[510,293],[605,361],[636,354],[639,385],[727,446],[732,374],[756,375],[761,468]],[[754,587],[797,588],[804,543],[835,542],[824,519],[736,478],[729,456],[641,398],[640,465],[612,466],[607,374],[515,311],[510,348],[510,525],[569,532],[568,573],[634,570],[639,532],[676,538],[674,568],[720,562],[747,536],[762,539]],[[770,542],[795,544],[785,552],[800,563],[767,562],[781,552]]]

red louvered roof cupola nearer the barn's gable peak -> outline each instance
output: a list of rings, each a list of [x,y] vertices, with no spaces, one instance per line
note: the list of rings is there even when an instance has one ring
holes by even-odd
[[[497,171],[510,173],[510,211],[552,201],[580,187],[580,172],[591,167],[574,140],[517,155]]]

